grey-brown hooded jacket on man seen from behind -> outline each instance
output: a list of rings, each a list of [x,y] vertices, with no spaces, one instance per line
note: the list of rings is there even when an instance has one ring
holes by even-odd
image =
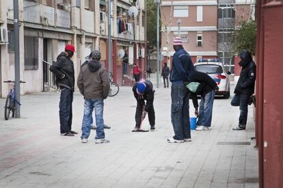
[[[109,94],[109,75],[105,67],[91,60],[81,67],[77,81],[79,91],[85,98],[107,98]]]

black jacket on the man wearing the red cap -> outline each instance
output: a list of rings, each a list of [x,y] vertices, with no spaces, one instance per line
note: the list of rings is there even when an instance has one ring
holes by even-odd
[[[68,53],[62,52],[58,55],[57,61],[49,68],[56,76],[57,87],[68,88],[74,90],[75,71],[74,64]]]

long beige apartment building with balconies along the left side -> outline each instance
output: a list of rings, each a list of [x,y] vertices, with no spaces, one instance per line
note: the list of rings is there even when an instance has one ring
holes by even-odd
[[[99,49],[101,62],[109,68],[107,0],[19,0],[21,94],[42,92],[50,80],[49,64],[64,51],[64,46],[75,45],[72,60],[77,77],[85,56]],[[137,16],[129,15],[135,6]],[[129,54],[129,63],[145,68],[146,0],[111,1],[111,42],[113,77],[122,84],[122,59],[118,50]],[[14,22],[13,1],[0,1],[0,96],[5,97],[14,80]],[[124,28],[121,30],[120,23]],[[49,63],[49,64],[48,64]]]

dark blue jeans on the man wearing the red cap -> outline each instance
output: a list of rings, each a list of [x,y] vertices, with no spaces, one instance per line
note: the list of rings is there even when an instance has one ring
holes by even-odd
[[[60,132],[68,133],[72,128],[73,92],[62,88],[59,103]]]

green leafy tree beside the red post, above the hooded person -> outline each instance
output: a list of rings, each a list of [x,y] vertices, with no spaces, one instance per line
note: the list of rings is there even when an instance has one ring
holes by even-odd
[[[234,33],[236,52],[248,50],[256,54],[256,21],[242,21]]]

